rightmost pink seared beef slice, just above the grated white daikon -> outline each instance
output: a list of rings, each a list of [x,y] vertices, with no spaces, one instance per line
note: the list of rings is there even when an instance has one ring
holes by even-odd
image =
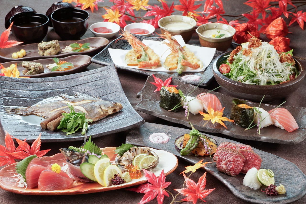
[[[240,149],[239,152],[244,156],[244,165],[240,173],[246,174],[248,170],[255,167],[257,170],[260,169],[262,159],[254,151]]]

